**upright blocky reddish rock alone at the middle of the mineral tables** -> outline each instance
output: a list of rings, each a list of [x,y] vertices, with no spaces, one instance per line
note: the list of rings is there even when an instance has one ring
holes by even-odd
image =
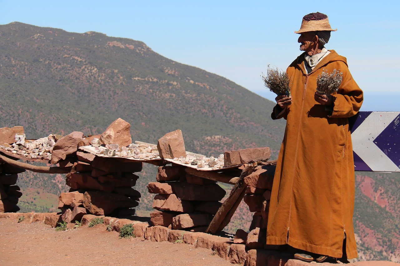
[[[185,143],[180,129],[162,136],[157,143],[157,149],[161,158],[174,159],[186,157]]]

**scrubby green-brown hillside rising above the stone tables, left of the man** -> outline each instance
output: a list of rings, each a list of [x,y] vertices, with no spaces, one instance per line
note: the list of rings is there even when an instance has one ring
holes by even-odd
[[[279,147],[284,123],[269,119],[271,101],[143,42],[18,22],[0,34],[0,124],[22,125],[30,138],[95,135],[121,117],[135,140],[181,129],[193,152]]]

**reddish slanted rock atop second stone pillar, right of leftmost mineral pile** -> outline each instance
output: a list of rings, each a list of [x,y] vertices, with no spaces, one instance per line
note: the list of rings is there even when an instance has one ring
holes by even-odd
[[[74,131],[59,139],[56,142],[56,145],[54,145],[51,163],[56,164],[76,153],[76,151],[78,151],[78,145],[82,139],[83,133],[80,131]]]

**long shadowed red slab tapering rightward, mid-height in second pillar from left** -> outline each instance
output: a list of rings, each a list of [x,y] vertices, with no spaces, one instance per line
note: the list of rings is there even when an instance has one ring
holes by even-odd
[[[114,190],[113,186],[100,183],[98,179],[81,173],[70,173],[66,175],[66,184],[72,189],[93,189],[111,192]]]

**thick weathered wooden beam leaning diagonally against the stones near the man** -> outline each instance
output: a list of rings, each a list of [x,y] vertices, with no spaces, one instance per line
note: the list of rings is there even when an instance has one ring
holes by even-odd
[[[206,233],[215,234],[224,229],[224,227],[230,222],[232,215],[238,208],[240,201],[242,201],[244,194],[246,193],[247,186],[244,183],[244,177],[253,173],[256,166],[257,163],[251,163],[243,169],[238,181],[233,186],[228,199],[222,203],[210,225],[207,227]]]

